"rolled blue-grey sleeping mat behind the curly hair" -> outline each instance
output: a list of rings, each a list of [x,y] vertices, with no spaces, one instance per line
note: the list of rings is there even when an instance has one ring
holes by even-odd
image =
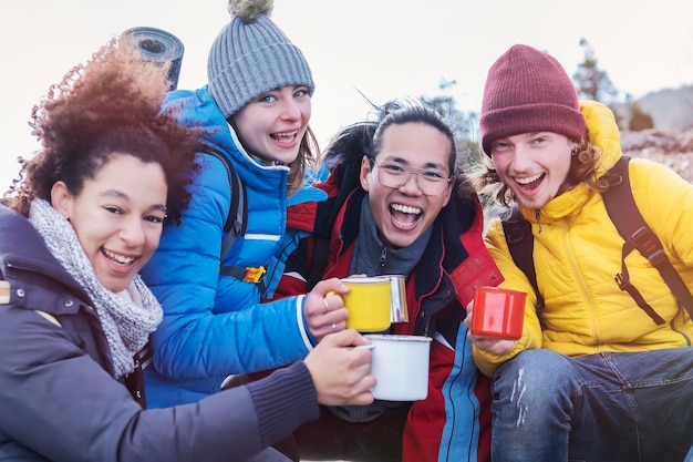
[[[178,86],[184,47],[180,39],[162,29],[137,27],[127,29],[122,35],[132,35],[143,60],[170,62],[168,80],[170,90]]]

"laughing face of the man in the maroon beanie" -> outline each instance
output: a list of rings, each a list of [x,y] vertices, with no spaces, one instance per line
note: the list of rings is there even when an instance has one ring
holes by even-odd
[[[561,191],[577,145],[558,133],[524,133],[494,141],[490,153],[498,176],[517,201],[541,208]]]

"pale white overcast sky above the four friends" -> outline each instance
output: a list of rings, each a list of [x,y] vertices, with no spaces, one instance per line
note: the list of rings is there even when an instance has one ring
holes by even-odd
[[[228,22],[225,0],[15,0],[0,18],[0,189],[18,155],[37,147],[27,125],[50,84],[122,31],[147,25],[185,44],[179,88],[206,83],[209,47]],[[272,19],[301,48],[317,83],[311,125],[327,142],[374,103],[442,94],[478,111],[486,73],[514,43],[555,55],[572,75],[586,38],[614,86],[638,97],[693,84],[690,0],[276,0]],[[358,91],[356,91],[358,90]],[[323,143],[324,146],[324,143]]]

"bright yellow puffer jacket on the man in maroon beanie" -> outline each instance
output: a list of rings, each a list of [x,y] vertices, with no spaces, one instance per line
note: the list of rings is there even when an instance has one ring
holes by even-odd
[[[611,111],[597,102],[582,102],[590,141],[602,150],[601,173],[621,157],[618,126]],[[635,203],[659,236],[666,255],[693,288],[693,185],[661,164],[634,158],[629,167]],[[503,362],[530,348],[547,348],[568,356],[600,351],[642,351],[690,346],[693,322],[669,287],[637,250],[625,259],[632,284],[666,320],[658,326],[613,277],[621,271],[622,238],[609,218],[601,195],[586,184],[561,194],[540,211],[521,208],[531,223],[537,285],[546,300],[539,326],[536,297],[524,273],[515,266],[503,227],[494,220],[486,245],[507,287],[528,292],[523,337],[513,351],[494,356],[475,348],[484,373],[493,376]]]

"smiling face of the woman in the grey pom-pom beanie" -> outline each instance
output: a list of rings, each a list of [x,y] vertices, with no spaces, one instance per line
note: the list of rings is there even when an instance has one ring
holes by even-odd
[[[234,114],[245,147],[265,161],[290,164],[308,129],[308,86],[282,86],[263,93]]]

